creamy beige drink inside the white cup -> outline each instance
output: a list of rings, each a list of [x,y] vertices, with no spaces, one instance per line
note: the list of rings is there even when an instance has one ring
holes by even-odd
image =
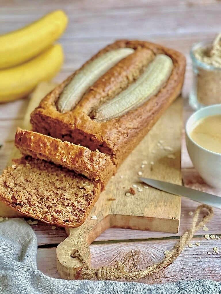
[[[199,146],[221,153],[221,114],[206,116],[197,121],[189,136]]]

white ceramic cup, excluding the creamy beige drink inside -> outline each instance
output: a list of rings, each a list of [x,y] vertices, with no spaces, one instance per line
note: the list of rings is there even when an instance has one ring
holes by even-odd
[[[217,114],[221,114],[221,104],[207,106],[193,113],[186,124],[186,143],[189,157],[200,176],[210,186],[221,189],[221,154],[199,146],[190,138],[199,119]]]

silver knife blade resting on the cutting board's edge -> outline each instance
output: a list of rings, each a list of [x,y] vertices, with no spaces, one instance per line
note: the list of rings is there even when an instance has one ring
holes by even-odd
[[[177,196],[183,196],[191,200],[221,209],[221,197],[163,181],[148,178],[139,179],[147,185],[154,187],[158,190],[171,193]]]

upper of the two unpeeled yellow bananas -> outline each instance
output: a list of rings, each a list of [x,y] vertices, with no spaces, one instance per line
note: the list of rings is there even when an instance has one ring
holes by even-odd
[[[22,64],[48,49],[66,26],[66,14],[57,10],[22,29],[1,35],[0,69]]]

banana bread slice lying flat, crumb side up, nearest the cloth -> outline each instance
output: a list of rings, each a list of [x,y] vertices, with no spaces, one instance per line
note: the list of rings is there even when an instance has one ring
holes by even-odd
[[[14,160],[0,176],[0,201],[24,216],[63,227],[81,225],[99,194],[99,181],[31,157]]]

